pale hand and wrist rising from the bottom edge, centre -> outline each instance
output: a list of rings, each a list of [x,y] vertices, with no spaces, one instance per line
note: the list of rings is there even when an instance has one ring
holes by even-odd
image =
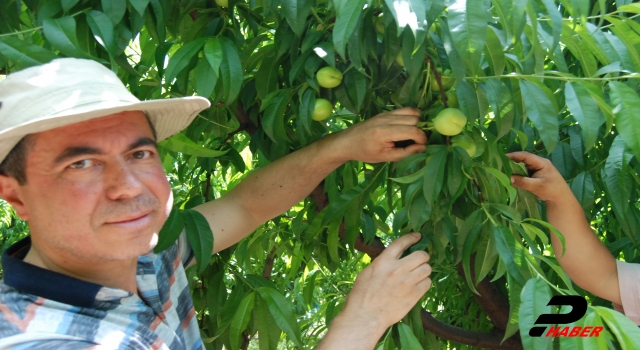
[[[400,256],[418,240],[419,233],[396,239],[360,272],[318,350],[373,349],[384,331],[415,306],[431,287],[429,254]]]

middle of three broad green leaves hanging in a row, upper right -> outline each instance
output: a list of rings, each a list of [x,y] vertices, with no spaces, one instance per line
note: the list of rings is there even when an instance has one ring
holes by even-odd
[[[564,93],[567,107],[582,129],[585,152],[588,152],[596,143],[598,129],[604,123],[598,104],[587,87],[580,83],[567,82]]]

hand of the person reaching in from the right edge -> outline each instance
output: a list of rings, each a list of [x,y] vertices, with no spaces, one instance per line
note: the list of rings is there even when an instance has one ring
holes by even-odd
[[[511,182],[514,186],[535,194],[545,202],[557,202],[566,198],[567,195],[573,196],[558,169],[548,159],[529,152],[508,153],[507,157],[514,162],[523,162],[527,169],[533,172],[531,177],[511,176]]]

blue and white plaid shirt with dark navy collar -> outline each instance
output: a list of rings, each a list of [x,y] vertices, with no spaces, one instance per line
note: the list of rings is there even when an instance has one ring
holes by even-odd
[[[141,297],[27,264],[30,245],[27,237],[2,255],[0,349],[204,349],[184,231],[169,249],[138,258]]]

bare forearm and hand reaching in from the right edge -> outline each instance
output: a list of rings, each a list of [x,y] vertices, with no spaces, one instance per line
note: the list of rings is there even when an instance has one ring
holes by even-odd
[[[547,204],[547,219],[565,238],[562,243],[551,235],[553,251],[562,269],[577,285],[603,299],[622,304],[616,260],[589,226],[580,203],[553,164],[527,152],[507,155],[515,162],[524,162],[534,171],[528,177],[512,177],[514,186],[532,192]]]

